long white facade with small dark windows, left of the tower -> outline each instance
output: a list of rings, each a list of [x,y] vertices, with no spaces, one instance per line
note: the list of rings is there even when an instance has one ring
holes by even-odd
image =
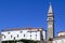
[[[3,30],[1,32],[2,41],[9,40],[35,40],[40,41],[40,31],[42,31],[43,40],[46,40],[46,31],[42,29],[13,29],[13,30]]]

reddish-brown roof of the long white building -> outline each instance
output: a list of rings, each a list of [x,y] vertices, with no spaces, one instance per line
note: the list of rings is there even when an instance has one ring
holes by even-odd
[[[5,28],[2,31],[13,31],[13,30],[44,30],[43,28]]]

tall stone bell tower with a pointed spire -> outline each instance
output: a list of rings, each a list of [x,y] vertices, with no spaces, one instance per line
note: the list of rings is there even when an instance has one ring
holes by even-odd
[[[54,37],[54,15],[52,11],[52,4],[50,3],[50,8],[48,11],[48,38],[47,40],[50,40]]]

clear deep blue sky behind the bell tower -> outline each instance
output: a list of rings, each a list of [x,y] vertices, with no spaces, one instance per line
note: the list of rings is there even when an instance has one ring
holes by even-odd
[[[54,12],[54,31],[65,30],[65,0],[0,0],[0,30],[4,28],[44,28],[49,3]]]

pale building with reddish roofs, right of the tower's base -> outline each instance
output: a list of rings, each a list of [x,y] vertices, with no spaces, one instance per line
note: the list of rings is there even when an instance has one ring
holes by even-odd
[[[57,37],[52,39],[52,43],[65,43],[65,31],[57,33]]]

